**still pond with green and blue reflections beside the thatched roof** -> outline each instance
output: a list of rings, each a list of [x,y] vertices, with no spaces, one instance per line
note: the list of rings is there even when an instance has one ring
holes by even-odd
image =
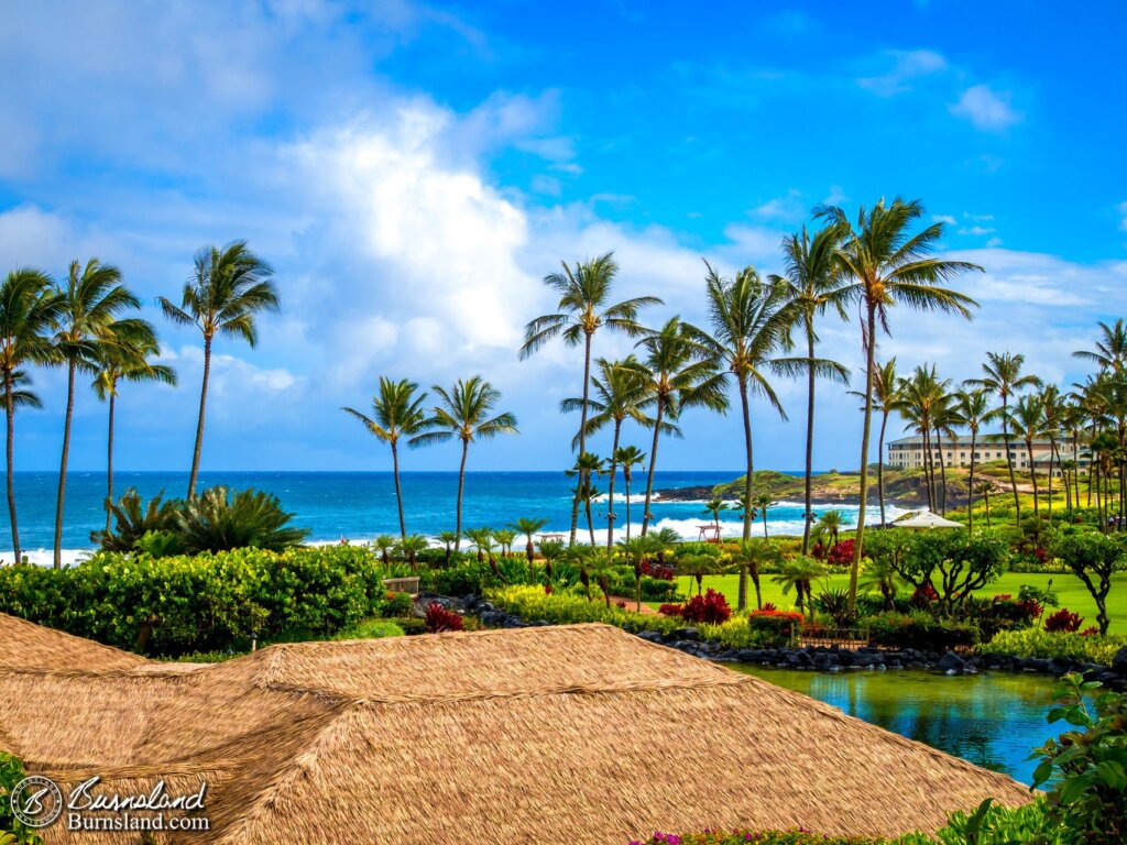
[[[1061,726],[1045,721],[1056,684],[1045,675],[733,668],[1022,783],[1029,783],[1037,765],[1026,759],[1030,751],[1061,732]]]

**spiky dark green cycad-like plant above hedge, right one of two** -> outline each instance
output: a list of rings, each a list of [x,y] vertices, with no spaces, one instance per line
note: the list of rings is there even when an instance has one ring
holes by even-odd
[[[259,490],[232,492],[222,486],[187,499],[172,513],[172,532],[189,554],[252,546],[282,551],[300,545],[309,534],[293,527],[293,514],[278,497]]]

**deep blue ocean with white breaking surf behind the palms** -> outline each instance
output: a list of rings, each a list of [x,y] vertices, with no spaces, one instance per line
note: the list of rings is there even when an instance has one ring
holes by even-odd
[[[731,481],[733,472],[657,472],[655,489],[711,486]],[[55,492],[57,474],[53,472],[17,472],[16,504],[20,542],[33,562],[50,562],[54,537]],[[407,530],[434,536],[454,528],[454,504],[458,495],[456,472],[405,472],[403,510]],[[603,501],[593,508],[596,536],[606,537],[605,490],[607,479],[597,487]],[[187,472],[117,472],[115,496],[135,487],[144,498],[163,491],[166,498],[181,497],[188,482]],[[567,532],[571,516],[574,480],[562,472],[468,472],[462,526],[500,528],[520,517],[548,519],[545,532]],[[390,472],[201,472],[199,486],[227,484],[233,489],[252,487],[275,493],[282,506],[294,514],[295,524],[309,528],[312,542],[352,542],[371,540],[379,534],[398,534],[396,488]],[[72,472],[66,482],[66,509],[63,527],[64,560],[78,560],[92,548],[90,532],[105,527],[103,501],[106,477],[103,472]],[[615,510],[619,530],[624,531],[625,509],[623,482],[615,481]],[[635,477],[631,484],[632,525],[641,525],[645,477]],[[835,506],[846,524],[857,519],[857,507]],[[683,537],[695,540],[700,525],[711,522],[701,501],[654,501],[656,527],[673,528]],[[825,509],[815,507],[815,510]],[[899,514],[894,509],[894,515]],[[580,539],[586,536],[580,512]],[[740,523],[735,513],[721,518],[721,533],[737,536]],[[763,531],[762,519],[756,532]],[[800,534],[800,502],[781,501],[767,512],[767,532]],[[7,509],[0,508],[0,560],[11,560],[11,532]]]

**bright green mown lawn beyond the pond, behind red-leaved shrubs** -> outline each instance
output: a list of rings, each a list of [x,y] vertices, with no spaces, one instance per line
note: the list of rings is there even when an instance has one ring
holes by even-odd
[[[1041,575],[1039,572],[1006,572],[997,581],[991,584],[979,594],[992,596],[996,593],[1010,593],[1012,595],[1018,595],[1018,588],[1022,584],[1029,584],[1036,587],[1045,588],[1048,585],[1049,579],[1053,580],[1053,589],[1056,590],[1057,596],[1061,599],[1061,606],[1067,607],[1070,611],[1075,611],[1084,617],[1084,628],[1095,624],[1095,603],[1092,597],[1088,594],[1088,589],[1081,584],[1080,579],[1072,575],[1056,573],[1056,575]],[[682,590],[689,589],[690,581],[692,581],[693,593],[696,593],[696,581],[692,578],[680,578],[680,587]],[[833,575],[829,576],[824,581],[818,581],[814,585],[814,592],[817,594],[826,582],[831,587],[845,588],[849,586],[848,575]],[[775,606],[780,608],[789,608],[793,604],[795,594],[791,593],[789,596],[782,595],[782,587],[774,584],[771,580],[771,576],[763,576],[761,578],[761,585],[763,588],[763,601],[772,602]],[[738,595],[739,576],[736,575],[712,575],[706,576],[704,588],[711,587],[725,595],[728,603],[733,607],[736,605],[736,596]],[[747,586],[748,601],[755,603],[755,590],[751,584]],[[1111,633],[1127,633],[1127,572],[1119,572],[1111,579],[1111,592],[1108,594],[1108,614],[1111,617]]]

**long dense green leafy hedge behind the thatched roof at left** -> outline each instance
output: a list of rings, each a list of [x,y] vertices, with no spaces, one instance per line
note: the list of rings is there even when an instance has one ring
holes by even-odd
[[[150,558],[101,552],[65,569],[0,568],[0,611],[158,656],[328,637],[375,615],[383,571],[358,546]]]

